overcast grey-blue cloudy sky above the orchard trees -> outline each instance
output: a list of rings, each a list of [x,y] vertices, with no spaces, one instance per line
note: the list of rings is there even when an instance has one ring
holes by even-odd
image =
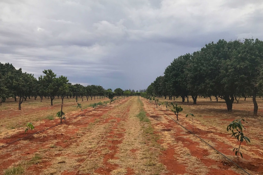
[[[180,55],[262,29],[261,0],[0,0],[0,62],[139,90]]]

